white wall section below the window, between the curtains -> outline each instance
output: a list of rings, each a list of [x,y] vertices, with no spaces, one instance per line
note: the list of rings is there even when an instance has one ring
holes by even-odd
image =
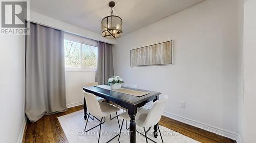
[[[95,71],[66,71],[67,107],[83,104],[82,87],[95,81]]]

